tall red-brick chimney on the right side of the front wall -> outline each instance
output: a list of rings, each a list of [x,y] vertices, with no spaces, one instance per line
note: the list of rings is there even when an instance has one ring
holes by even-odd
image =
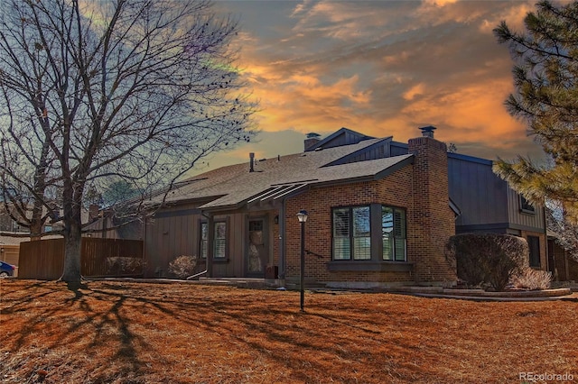
[[[455,223],[449,205],[448,158],[445,143],[433,139],[435,127],[420,128],[422,137],[410,139],[409,153],[414,159],[414,209],[409,231],[414,251],[415,280],[421,284],[453,283],[456,271],[447,261],[445,242],[455,234]],[[408,255],[409,256],[409,255]]]

